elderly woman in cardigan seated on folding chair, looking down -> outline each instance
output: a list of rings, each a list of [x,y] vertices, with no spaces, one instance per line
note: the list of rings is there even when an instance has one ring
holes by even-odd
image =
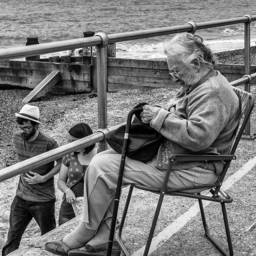
[[[126,159],[123,187],[138,183],[161,188],[171,154],[228,153],[239,123],[239,99],[227,79],[215,71],[211,50],[201,37],[179,34],[165,43],[164,49],[170,75],[181,89],[165,108],[143,107],[142,120],[165,139],[149,163]],[[119,163],[120,155],[113,150],[93,157],[85,173],[83,219],[63,241],[47,243],[48,251],[61,255],[71,249],[70,255],[105,253]],[[213,183],[222,167],[221,161],[180,163],[171,171],[167,186],[171,189]],[[119,254],[114,242],[112,255]]]

